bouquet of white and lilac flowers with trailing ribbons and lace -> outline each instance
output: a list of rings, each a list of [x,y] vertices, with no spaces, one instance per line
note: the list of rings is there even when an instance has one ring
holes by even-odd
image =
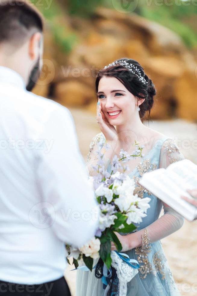
[[[99,144],[103,146],[103,143]],[[130,179],[126,174],[127,170],[129,170],[126,163],[133,158],[143,156],[143,146],[140,147],[136,141],[133,146],[136,149],[132,155],[121,149],[120,157],[117,155],[113,157],[111,161],[111,174],[106,171],[104,166],[105,152],[97,151],[98,162],[96,166],[92,167],[96,174],[93,177],[89,177],[89,183],[94,189],[95,198],[100,207],[99,227],[95,237],[79,250],[67,245],[68,257],[73,256],[75,268],[84,271],[95,269],[95,276],[102,278],[104,288],[108,286],[108,290],[111,292],[115,282],[117,288],[115,278],[117,279],[118,274],[122,294],[117,293],[117,295],[126,295],[126,284],[138,272],[139,264],[136,260],[130,259],[127,254],[119,253],[122,245],[116,232],[120,234],[133,232],[136,229],[135,224],[142,222],[142,218],[146,216],[147,209],[150,208],[150,198],[141,199],[137,195],[133,195],[135,184],[133,179]],[[104,147],[105,151],[110,148],[108,144],[105,144]],[[119,169],[121,169],[121,173],[118,171]],[[111,251],[111,242],[114,243],[117,251]],[[93,266],[93,260],[97,258],[99,258],[98,262]],[[78,261],[81,259],[83,259],[85,266],[78,267]],[[68,263],[70,264],[69,260]],[[125,275],[125,266],[124,272],[121,275],[122,265],[125,264],[129,276]],[[111,292],[108,292],[106,295],[111,295]]]

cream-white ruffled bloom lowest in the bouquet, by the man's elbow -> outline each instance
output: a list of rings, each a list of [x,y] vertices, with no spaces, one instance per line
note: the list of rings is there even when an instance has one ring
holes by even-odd
[[[86,257],[96,259],[99,257],[101,242],[98,238],[92,238],[88,243],[80,248],[80,251],[85,254]]]

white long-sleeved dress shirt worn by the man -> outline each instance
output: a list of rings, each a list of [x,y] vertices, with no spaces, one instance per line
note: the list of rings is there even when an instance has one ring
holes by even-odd
[[[0,280],[63,276],[64,242],[94,236],[98,206],[67,108],[27,92],[0,66]]]

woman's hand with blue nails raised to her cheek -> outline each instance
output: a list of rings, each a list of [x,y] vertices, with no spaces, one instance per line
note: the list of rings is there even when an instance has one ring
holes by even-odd
[[[102,133],[107,141],[117,141],[117,131],[113,125],[108,122],[105,114],[102,112],[102,102],[96,106],[96,119]]]

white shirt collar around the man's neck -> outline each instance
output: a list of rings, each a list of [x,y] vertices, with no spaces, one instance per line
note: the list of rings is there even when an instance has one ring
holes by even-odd
[[[7,67],[0,66],[0,82],[26,89],[25,82],[20,74]]]

